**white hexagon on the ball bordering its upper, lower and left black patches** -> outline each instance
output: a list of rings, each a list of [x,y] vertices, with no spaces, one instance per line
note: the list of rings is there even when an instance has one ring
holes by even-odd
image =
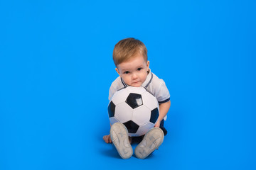
[[[120,123],[125,123],[132,120],[133,109],[127,105],[127,103],[119,103],[114,111],[114,117],[119,120]]]

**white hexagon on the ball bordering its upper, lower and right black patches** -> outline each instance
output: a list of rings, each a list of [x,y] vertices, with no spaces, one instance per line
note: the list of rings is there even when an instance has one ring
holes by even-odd
[[[137,123],[137,125],[144,125],[145,123],[148,123],[150,120],[150,114],[151,111],[149,108],[143,106],[139,106],[139,108],[134,109],[134,113],[132,114],[132,120],[134,123]]]

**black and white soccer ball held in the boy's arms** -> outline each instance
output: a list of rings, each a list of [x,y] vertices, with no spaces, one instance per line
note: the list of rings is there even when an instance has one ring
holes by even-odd
[[[108,114],[111,125],[123,123],[129,136],[142,136],[154,128],[159,117],[159,103],[144,87],[127,86],[114,93]]]

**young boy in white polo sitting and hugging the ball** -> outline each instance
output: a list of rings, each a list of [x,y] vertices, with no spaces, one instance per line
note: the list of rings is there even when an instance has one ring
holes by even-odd
[[[162,79],[156,77],[149,69],[146,46],[140,40],[126,38],[120,40],[114,46],[113,60],[119,77],[110,86],[109,100],[119,89],[125,86],[144,86],[159,101],[159,118],[154,128],[149,130],[142,142],[135,149],[135,155],[144,159],[161,145],[167,131],[164,128],[164,120],[171,106],[169,91]],[[123,159],[132,156],[133,151],[128,138],[128,132],[122,123],[114,123],[110,129],[110,135],[103,137],[106,143],[114,143],[117,152]]]

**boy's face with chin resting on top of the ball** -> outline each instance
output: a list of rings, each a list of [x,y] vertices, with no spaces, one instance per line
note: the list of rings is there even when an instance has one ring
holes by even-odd
[[[116,71],[129,86],[142,86],[149,70],[149,61],[145,61],[142,55],[136,55],[131,60],[117,65]]]

